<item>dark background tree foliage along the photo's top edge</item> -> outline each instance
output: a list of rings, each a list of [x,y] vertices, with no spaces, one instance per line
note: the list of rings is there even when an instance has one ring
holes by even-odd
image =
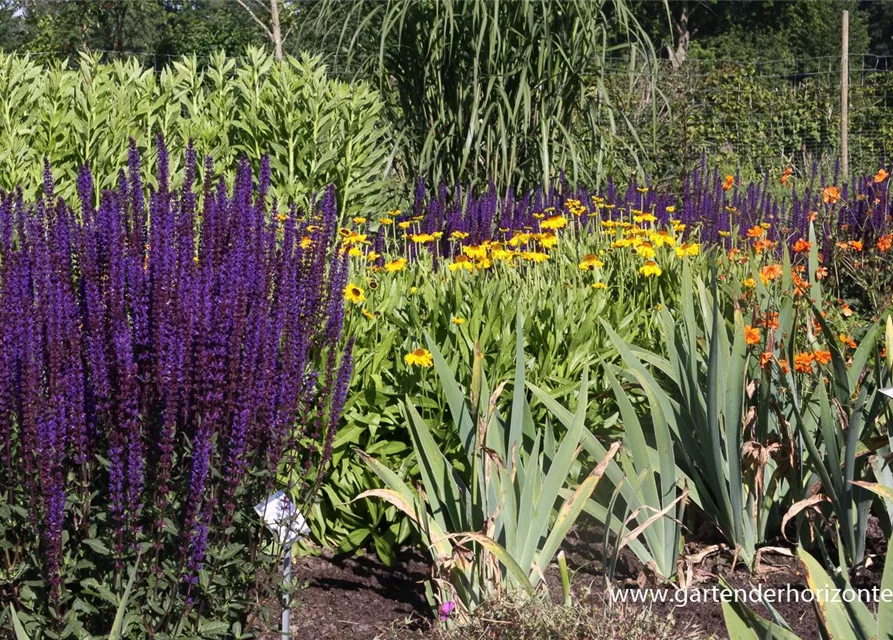
[[[281,2],[283,23],[298,33],[320,0]],[[893,0],[631,0],[631,13],[661,49],[708,58],[836,56],[840,12],[851,13],[855,52],[893,53]],[[341,2],[348,33],[363,16]],[[368,4],[365,5],[368,8]],[[351,26],[352,25],[352,26]],[[68,53],[95,50],[182,55],[241,53],[267,45],[236,0],[0,0],[0,47]],[[289,52],[335,53],[335,40],[309,30],[286,41]]]

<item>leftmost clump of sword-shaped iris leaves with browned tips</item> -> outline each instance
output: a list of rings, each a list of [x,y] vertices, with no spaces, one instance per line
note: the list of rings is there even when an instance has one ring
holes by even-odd
[[[374,457],[363,454],[386,488],[370,489],[358,499],[382,498],[412,519],[435,563],[435,580],[429,585],[432,605],[454,601],[463,617],[500,587],[534,593],[619,447],[619,443],[610,447],[559,503],[559,493],[576,467],[585,430],[588,376],[583,374],[567,433],[558,439],[548,425],[537,428],[526,398],[520,331],[518,336],[511,409],[505,417],[499,398],[505,383],[491,389],[480,354],[474,359],[466,399],[449,364],[428,339],[459,439],[461,453],[456,457],[462,466],[456,468],[443,454],[427,422],[407,400],[406,418],[424,498]]]

